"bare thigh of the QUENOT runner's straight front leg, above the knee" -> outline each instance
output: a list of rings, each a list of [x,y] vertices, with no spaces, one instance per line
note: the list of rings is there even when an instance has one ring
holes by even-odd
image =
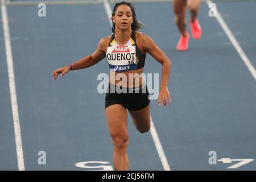
[[[120,104],[108,106],[105,109],[105,115],[112,138],[117,137],[117,135],[128,136],[127,111],[125,107]]]

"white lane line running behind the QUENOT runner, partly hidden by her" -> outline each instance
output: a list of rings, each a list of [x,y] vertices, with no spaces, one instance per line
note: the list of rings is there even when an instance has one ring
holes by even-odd
[[[112,25],[112,21],[110,19],[111,16],[112,16],[112,10],[110,8],[109,2],[107,0],[103,0],[103,2],[104,2],[104,7],[105,7],[105,10],[106,10],[106,14],[109,17],[109,22]],[[168,164],[168,161],[166,159],[166,155],[164,154],[162,144],[161,144],[160,139],[158,137],[158,133],[156,132],[155,125],[154,125],[154,122],[153,122],[151,116],[150,116],[150,123],[151,123],[150,134],[151,134],[151,136],[154,140],[155,147],[156,147],[156,150],[158,151],[158,155],[159,155],[159,158],[162,162],[163,168],[164,168],[165,171],[171,171],[171,168],[170,168],[170,166]]]

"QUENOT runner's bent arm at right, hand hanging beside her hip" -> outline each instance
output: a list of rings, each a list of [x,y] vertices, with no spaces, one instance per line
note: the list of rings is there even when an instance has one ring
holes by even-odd
[[[162,80],[160,83],[160,92],[158,98],[158,104],[163,101],[164,106],[167,104],[167,98],[171,102],[170,93],[168,90],[168,78],[171,73],[171,61],[166,56],[166,54],[156,46],[155,42],[147,35],[142,36],[143,39],[143,49],[148,52],[152,57],[155,58],[159,63],[162,64]]]

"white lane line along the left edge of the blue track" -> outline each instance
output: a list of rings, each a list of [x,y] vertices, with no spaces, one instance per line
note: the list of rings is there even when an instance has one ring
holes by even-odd
[[[10,32],[9,32],[8,15],[7,15],[7,10],[6,10],[6,5],[4,0],[2,0],[1,10],[2,10],[2,22],[3,22],[3,36],[5,38],[5,51],[6,51],[8,76],[9,76],[11,109],[13,112],[16,154],[18,158],[18,169],[19,171],[24,171],[25,166],[24,166],[24,157],[23,157],[23,150],[22,150],[22,137],[20,133],[19,111],[18,111],[16,88],[15,88],[13,54],[11,52],[11,40],[10,40]]]

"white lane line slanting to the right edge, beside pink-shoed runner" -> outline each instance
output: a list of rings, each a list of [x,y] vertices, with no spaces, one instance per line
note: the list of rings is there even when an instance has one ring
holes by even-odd
[[[210,0],[205,0],[205,2],[208,4],[208,6],[209,6],[210,3],[212,3],[212,1],[210,1]],[[228,25],[225,23],[224,19],[220,15],[220,13],[218,13],[217,9],[216,9],[216,15],[217,15],[216,19],[217,19],[218,23],[220,23],[220,26],[222,27],[222,29],[224,30],[224,32],[228,36],[230,42],[233,44],[234,48],[237,50],[237,53],[240,55],[243,63],[245,63],[246,67],[249,69],[251,75],[253,75],[254,80],[256,81],[256,70],[253,67],[253,64],[251,64],[251,61],[246,56],[245,52],[243,52],[242,47],[237,42],[237,39],[234,37],[232,31],[229,29]]]

